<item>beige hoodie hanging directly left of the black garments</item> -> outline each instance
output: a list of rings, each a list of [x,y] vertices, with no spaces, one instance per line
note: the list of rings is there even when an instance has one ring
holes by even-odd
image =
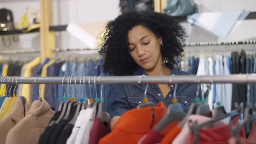
[[[54,113],[46,100],[33,101],[26,117],[8,133],[6,144],[37,144]]]

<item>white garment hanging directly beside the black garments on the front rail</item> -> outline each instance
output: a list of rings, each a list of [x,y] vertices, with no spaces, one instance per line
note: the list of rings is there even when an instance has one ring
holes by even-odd
[[[67,139],[66,144],[75,144],[75,138],[79,129],[81,128],[82,124],[84,124],[85,119],[85,109],[79,112],[79,115],[76,118],[74,128],[72,129],[72,133],[70,134],[69,138]]]

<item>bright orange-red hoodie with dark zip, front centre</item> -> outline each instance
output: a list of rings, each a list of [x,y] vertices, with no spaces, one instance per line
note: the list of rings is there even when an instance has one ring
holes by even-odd
[[[99,144],[137,144],[151,131],[152,108],[138,108],[125,112],[116,122],[111,133],[103,137]],[[165,115],[167,108],[163,102],[154,107],[154,127]]]

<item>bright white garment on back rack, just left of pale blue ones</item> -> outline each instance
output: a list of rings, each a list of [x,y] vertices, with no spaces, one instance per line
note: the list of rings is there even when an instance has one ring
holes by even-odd
[[[209,75],[213,75],[213,58],[209,57],[208,58],[208,63],[209,63]],[[210,91],[208,94],[208,101],[207,101],[210,110],[213,110],[213,84],[210,85]]]

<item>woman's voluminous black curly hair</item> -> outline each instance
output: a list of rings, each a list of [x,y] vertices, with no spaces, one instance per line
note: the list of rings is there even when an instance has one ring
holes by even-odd
[[[172,16],[154,11],[132,11],[109,22],[102,33],[99,54],[103,57],[105,73],[132,75],[138,68],[128,50],[128,31],[139,25],[162,37],[164,48],[161,52],[164,62],[175,64],[175,58],[182,56],[187,35],[185,29]]]

